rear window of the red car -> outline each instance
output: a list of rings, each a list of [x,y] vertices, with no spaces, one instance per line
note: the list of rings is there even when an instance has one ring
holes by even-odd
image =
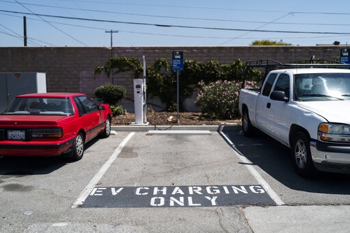
[[[18,97],[2,114],[73,115],[69,98]]]

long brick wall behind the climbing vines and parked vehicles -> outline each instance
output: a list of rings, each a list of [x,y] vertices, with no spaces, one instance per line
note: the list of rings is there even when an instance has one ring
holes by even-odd
[[[114,56],[146,56],[150,66],[157,58],[166,58],[171,64],[172,51],[183,51],[185,59],[230,64],[239,58],[274,59],[288,62],[296,59],[334,59],[340,49],[350,46],[200,46],[200,47],[113,47]],[[112,83],[112,77],[101,73],[94,79],[94,68],[105,65],[111,50],[105,47],[0,47],[0,72],[46,72],[47,92],[81,92],[90,96],[94,89]],[[113,84],[126,87],[127,96],[133,98],[133,73],[113,76]],[[124,103],[126,104],[126,103]],[[130,104],[126,104],[133,111]]]

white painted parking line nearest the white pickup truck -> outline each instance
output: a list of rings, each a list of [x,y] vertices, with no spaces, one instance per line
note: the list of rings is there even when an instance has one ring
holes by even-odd
[[[269,194],[271,199],[276,203],[278,206],[283,206],[284,202],[280,199],[277,193],[273,191],[273,189],[270,187],[270,185],[267,183],[264,178],[256,171],[256,169],[252,166],[252,161],[247,159],[245,156],[239,154],[239,150],[235,148],[234,143],[230,140],[230,138],[227,137],[225,133],[222,131],[219,131],[219,133],[222,135],[222,137],[225,138],[225,140],[230,144],[231,148],[233,149],[234,153],[241,159],[242,163],[247,167],[247,169],[250,171],[250,173],[258,180],[259,184],[265,189],[265,191]]]

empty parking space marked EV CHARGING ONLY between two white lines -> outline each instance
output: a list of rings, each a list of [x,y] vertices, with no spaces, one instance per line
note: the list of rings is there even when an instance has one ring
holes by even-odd
[[[275,205],[216,132],[137,133],[98,183],[83,207]]]

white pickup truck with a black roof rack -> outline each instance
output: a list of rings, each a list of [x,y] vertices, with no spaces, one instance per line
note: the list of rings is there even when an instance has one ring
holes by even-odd
[[[350,173],[350,70],[294,65],[270,71],[260,90],[241,90],[244,135],[258,128],[291,148],[301,176]]]

